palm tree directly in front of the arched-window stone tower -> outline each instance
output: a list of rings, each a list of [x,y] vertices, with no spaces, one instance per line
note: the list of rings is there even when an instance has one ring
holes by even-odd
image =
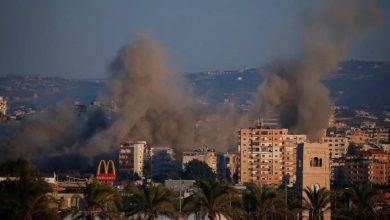
[[[332,193],[322,187],[310,188],[303,190],[305,198],[303,199],[303,209],[309,211],[309,219],[321,220],[324,218],[324,212],[330,210],[330,203],[332,202]]]

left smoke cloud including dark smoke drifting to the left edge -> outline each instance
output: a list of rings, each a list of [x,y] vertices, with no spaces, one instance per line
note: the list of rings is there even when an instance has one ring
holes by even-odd
[[[140,35],[123,47],[109,76],[105,101],[117,106],[110,120],[99,109],[77,116],[71,103],[62,102],[35,118],[4,126],[0,158],[22,156],[58,168],[66,165],[64,161],[92,162],[127,140],[179,152],[199,145],[223,151],[236,146],[236,130],[246,118],[233,106],[211,107],[198,100],[184,75],[166,67],[163,50],[150,37]]]

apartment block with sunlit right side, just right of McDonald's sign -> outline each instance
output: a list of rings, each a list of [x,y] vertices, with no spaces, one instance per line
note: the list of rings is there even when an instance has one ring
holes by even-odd
[[[150,154],[146,141],[123,142],[119,148],[119,172],[137,173],[144,175],[145,160]]]

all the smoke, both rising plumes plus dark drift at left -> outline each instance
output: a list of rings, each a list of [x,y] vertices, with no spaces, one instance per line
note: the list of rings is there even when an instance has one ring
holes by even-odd
[[[307,12],[300,59],[271,69],[258,90],[259,108],[251,112],[255,117],[278,112],[283,126],[318,138],[333,107],[320,80],[337,67],[349,39],[368,31],[379,18],[369,1],[335,1]],[[119,51],[109,74],[107,97],[118,107],[111,120],[99,110],[78,117],[70,103],[60,103],[25,122],[2,126],[0,160],[23,156],[67,169],[72,160],[80,164],[106,155],[126,140],[179,151],[201,144],[225,151],[236,145],[236,130],[252,125],[255,118],[232,106],[210,107],[198,100],[183,75],[166,67],[160,46],[145,35]]]

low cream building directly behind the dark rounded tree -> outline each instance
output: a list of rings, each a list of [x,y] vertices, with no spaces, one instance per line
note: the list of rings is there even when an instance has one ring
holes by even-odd
[[[205,162],[214,173],[217,172],[217,155],[215,154],[214,149],[210,149],[206,146],[203,146],[194,151],[186,151],[183,152],[183,161],[182,167],[183,169],[191,160],[200,160]]]

